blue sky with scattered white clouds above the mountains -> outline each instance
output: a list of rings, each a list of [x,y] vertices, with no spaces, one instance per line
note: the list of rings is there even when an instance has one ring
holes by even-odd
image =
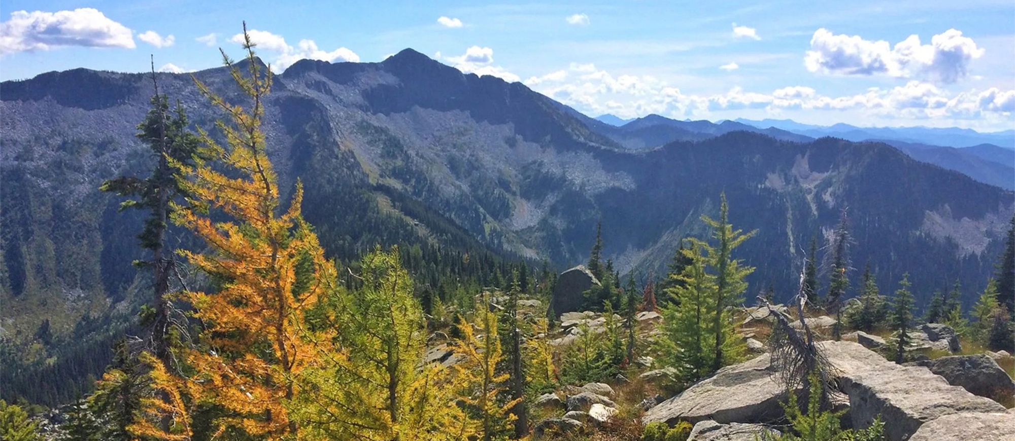
[[[591,117],[1015,128],[1012,0],[5,0],[0,79],[208,69],[244,20],[276,72],[412,48]]]

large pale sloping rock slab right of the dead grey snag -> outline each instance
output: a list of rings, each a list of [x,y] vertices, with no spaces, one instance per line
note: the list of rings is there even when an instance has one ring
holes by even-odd
[[[869,427],[880,416],[890,441],[908,439],[921,425],[945,415],[1005,412],[1003,406],[950,385],[925,367],[897,365],[860,344],[820,342],[818,349],[840,374],[853,427]]]

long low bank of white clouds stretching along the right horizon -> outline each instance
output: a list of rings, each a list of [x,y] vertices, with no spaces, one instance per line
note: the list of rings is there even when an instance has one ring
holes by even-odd
[[[874,119],[1015,118],[1015,90],[990,88],[956,94],[918,80],[842,96],[822,95],[802,85],[770,92],[733,87],[719,94],[688,94],[650,75],[614,75],[592,64],[572,63],[565,70],[530,77],[525,84],[588,115],[613,114],[620,118],[649,114],[705,118],[742,109],[761,109],[770,115],[785,109],[850,111]]]

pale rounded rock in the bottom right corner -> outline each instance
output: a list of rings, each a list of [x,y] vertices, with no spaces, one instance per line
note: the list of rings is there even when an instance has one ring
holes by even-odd
[[[886,427],[887,429],[887,427]],[[1015,414],[952,414],[924,424],[909,441],[1015,440]]]

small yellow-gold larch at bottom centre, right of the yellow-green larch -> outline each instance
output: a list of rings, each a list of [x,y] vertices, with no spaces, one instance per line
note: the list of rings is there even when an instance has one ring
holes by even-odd
[[[476,436],[483,441],[491,441],[510,431],[518,418],[511,413],[521,401],[517,398],[504,405],[497,402],[504,392],[502,384],[510,379],[507,373],[498,373],[498,365],[503,361],[500,338],[497,336],[496,313],[491,312],[489,300],[483,294],[482,304],[476,308],[473,323],[462,322],[463,337],[456,352],[464,360],[455,365],[456,383],[464,387],[461,395],[465,402],[478,414]],[[479,335],[477,335],[477,329]]]

